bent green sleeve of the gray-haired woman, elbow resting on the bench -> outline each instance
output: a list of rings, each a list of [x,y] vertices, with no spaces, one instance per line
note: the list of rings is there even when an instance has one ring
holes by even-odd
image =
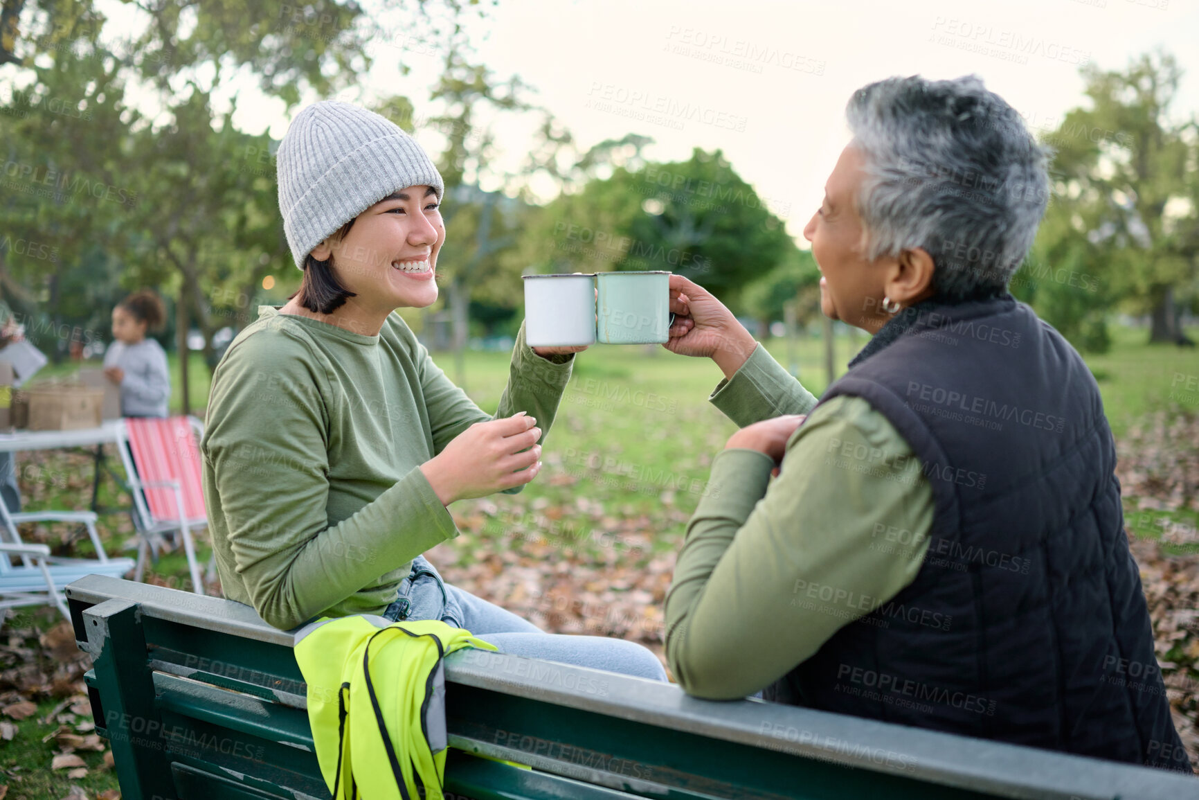
[[[665,643],[691,694],[745,697],[782,678],[911,583],[928,549],[932,488],[866,401],[823,405],[771,483],[772,465],[754,450],[719,453],[688,524]]]

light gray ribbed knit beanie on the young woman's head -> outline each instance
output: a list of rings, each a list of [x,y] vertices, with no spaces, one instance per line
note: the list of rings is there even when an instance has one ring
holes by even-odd
[[[300,112],[276,154],[283,233],[296,266],[312,248],[392,192],[445,186],[428,154],[388,119],[333,100]]]

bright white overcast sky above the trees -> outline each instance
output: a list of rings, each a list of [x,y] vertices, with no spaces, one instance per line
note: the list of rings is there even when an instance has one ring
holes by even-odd
[[[1052,128],[1084,100],[1080,64],[1121,68],[1161,47],[1187,72],[1175,112],[1199,110],[1193,0],[500,0],[471,31],[483,62],[535,86],[582,144],[643,133],[655,160],[719,148],[796,236],[846,140],[845,101],[872,80],[976,73]],[[404,53],[409,76],[398,54],[378,47],[348,98],[404,94],[420,110],[438,54]],[[236,89],[236,124],[282,137],[283,103]],[[526,127],[499,132],[513,160],[528,152]]]

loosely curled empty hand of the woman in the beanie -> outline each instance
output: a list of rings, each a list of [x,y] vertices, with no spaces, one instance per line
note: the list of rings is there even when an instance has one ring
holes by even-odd
[[[528,483],[541,470],[541,428],[524,411],[476,422],[446,445],[421,471],[441,505],[481,498]],[[520,452],[520,451],[525,452]]]

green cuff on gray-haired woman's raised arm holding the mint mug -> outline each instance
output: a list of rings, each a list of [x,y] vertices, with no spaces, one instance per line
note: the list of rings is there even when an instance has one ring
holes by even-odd
[[[739,428],[784,414],[807,414],[817,398],[760,343],[733,378],[725,378],[707,398]]]

